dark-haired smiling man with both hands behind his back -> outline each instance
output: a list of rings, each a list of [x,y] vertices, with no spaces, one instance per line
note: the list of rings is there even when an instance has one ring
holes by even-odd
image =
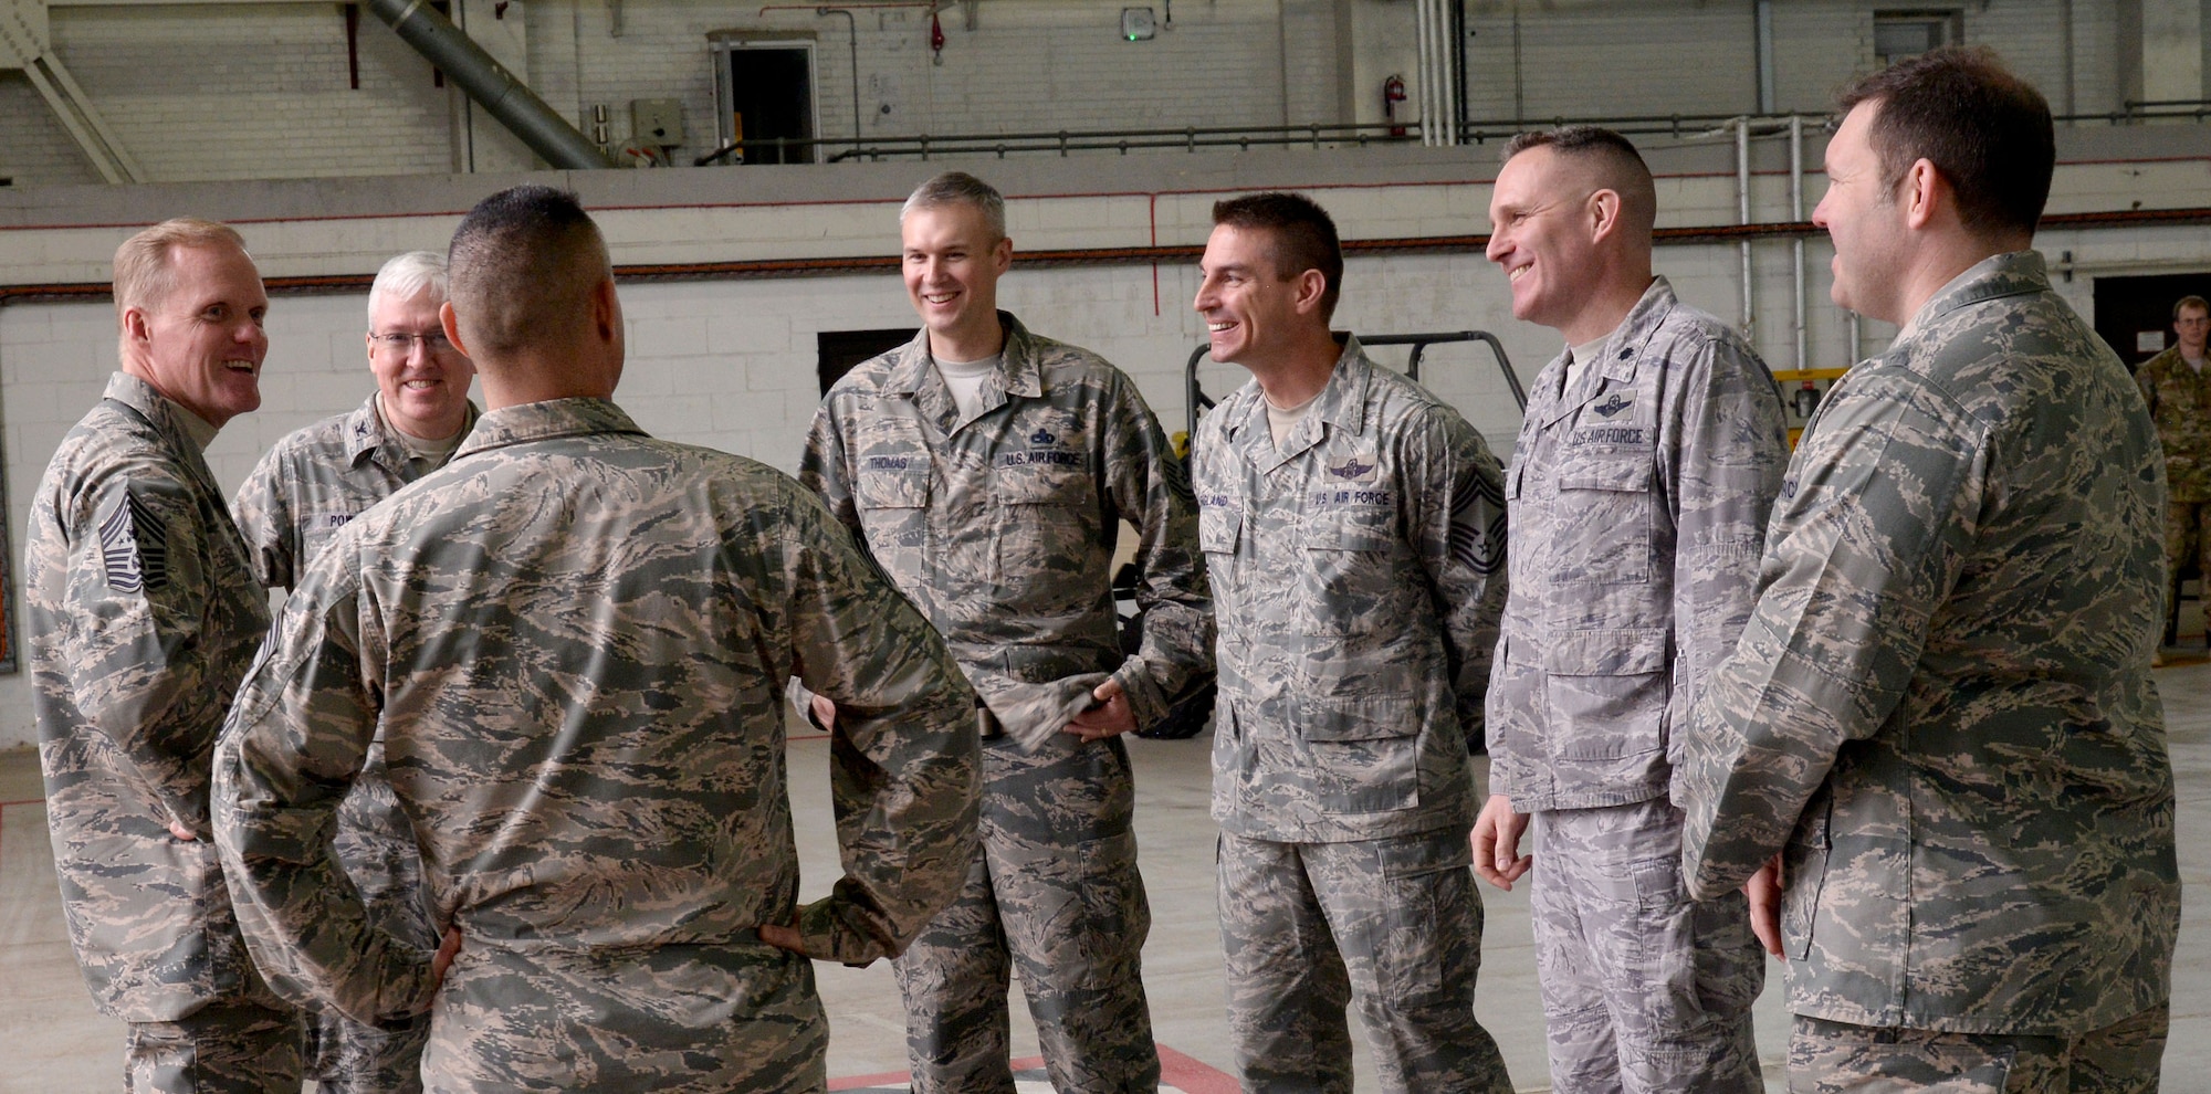
[[[1506,595],[1497,460],[1335,345],[1342,270],[1320,206],[1214,206],[1196,309],[1214,360],[1254,376],[1192,446],[1236,1067],[1247,1092],[1349,1092],[1358,1001],[1384,1090],[1510,1092],[1475,1021],[1466,844],[1466,734]]]

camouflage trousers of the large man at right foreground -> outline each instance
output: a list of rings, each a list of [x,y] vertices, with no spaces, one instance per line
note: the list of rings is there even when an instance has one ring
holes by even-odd
[[[1806,1019],[1791,1094],[2156,1094],[2169,1008],[2081,1037],[1952,1034]]]

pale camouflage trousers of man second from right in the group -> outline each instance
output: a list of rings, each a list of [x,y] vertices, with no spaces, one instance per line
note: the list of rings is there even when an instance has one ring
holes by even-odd
[[[1749,902],[1691,902],[1665,798],[1534,813],[1528,893],[1559,1094],[1760,1094]]]

